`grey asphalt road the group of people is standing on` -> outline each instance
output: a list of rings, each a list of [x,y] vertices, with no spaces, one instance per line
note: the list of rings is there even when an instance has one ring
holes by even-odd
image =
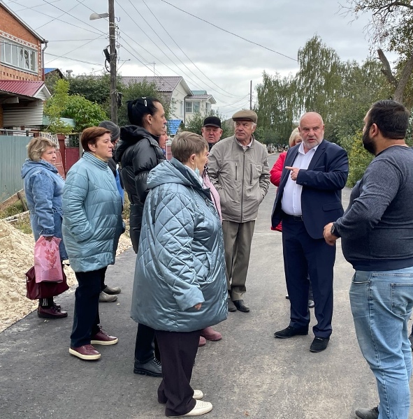
[[[270,165],[276,155],[270,156]],[[270,230],[275,197],[271,186],[256,222],[247,278],[248,314],[229,313],[216,326],[224,336],[199,348],[192,385],[214,409],[205,418],[355,418],[357,407],[378,402],[375,378],[356,341],[349,307],[352,267],[335,264],[333,335],[326,351],[310,353],[312,333],[275,339],[289,324],[281,233]],[[349,190],[343,191],[347,206]],[[99,346],[101,360],[69,355],[74,291],[58,297],[66,319],[45,321],[36,313],[0,333],[0,418],[164,418],[157,403],[159,378],[133,374],[136,323],[129,318],[135,253],[122,253],[108,269],[108,284],[121,286],[115,303],[99,305],[103,328],[119,338]],[[311,325],[314,325],[312,318]]]

